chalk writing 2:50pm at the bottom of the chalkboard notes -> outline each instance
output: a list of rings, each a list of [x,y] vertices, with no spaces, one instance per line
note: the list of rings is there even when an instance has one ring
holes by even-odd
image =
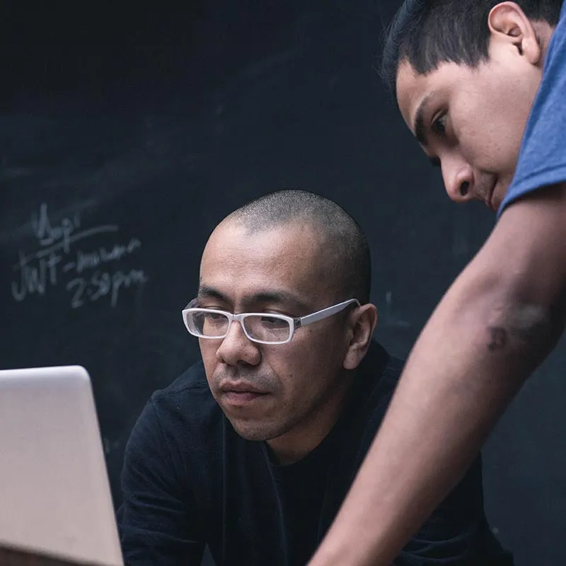
[[[73,291],[71,307],[79,308],[86,300],[96,301],[100,297],[110,295],[110,306],[118,304],[120,289],[145,283],[147,277],[143,270],[130,270],[128,273],[96,271],[90,278],[75,277],[67,283],[67,291]]]

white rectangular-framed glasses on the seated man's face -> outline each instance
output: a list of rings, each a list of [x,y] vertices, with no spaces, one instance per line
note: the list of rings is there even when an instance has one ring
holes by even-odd
[[[228,335],[233,320],[238,320],[248,340],[260,344],[286,344],[291,342],[298,328],[340,313],[351,304],[360,306],[357,299],[350,299],[301,318],[292,318],[284,314],[232,314],[215,308],[199,308],[196,306],[197,299],[193,299],[183,309],[183,321],[187,330],[199,338],[224,338]]]

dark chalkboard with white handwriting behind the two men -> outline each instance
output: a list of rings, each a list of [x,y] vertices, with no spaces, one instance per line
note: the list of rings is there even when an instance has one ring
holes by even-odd
[[[345,207],[371,242],[376,336],[401,357],[492,228],[449,202],[374,72],[397,4],[9,6],[0,366],[86,366],[116,505],[141,408],[198,359],[180,311],[226,214],[279,188]],[[565,357],[484,452],[487,512],[518,566],[566,563]]]

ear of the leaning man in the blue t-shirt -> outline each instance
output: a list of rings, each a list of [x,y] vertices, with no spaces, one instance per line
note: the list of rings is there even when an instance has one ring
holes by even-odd
[[[520,6],[514,2],[497,4],[487,16],[487,25],[490,28],[492,45],[493,42],[497,45],[512,45],[529,63],[538,65],[542,62],[543,50],[538,42],[536,30]]]

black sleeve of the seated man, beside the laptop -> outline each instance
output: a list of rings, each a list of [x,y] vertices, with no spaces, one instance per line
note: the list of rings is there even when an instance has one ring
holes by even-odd
[[[200,565],[204,536],[179,467],[150,401],[129,438],[122,470],[117,516],[127,566]]]

